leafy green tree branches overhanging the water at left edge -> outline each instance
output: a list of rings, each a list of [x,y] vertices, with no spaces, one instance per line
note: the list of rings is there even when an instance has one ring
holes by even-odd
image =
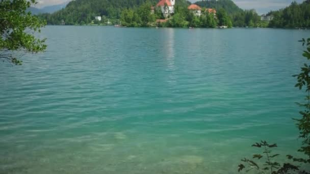
[[[1,0],[0,2],[0,60],[21,65],[22,61],[14,57],[13,51],[37,53],[44,51],[45,39],[33,34],[40,32],[45,21],[25,12],[35,0]],[[27,32],[29,30],[29,32]]]

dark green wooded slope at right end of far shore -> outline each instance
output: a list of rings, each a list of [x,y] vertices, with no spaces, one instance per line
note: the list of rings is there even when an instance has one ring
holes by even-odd
[[[273,15],[269,27],[295,28],[310,27],[310,0],[301,4],[293,2],[289,7],[278,11],[272,11],[268,15]]]

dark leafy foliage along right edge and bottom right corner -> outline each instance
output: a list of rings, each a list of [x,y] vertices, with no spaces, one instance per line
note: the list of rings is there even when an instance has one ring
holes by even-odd
[[[307,61],[310,60],[310,38],[307,40],[302,39],[300,40],[302,42],[302,45],[306,45],[306,50],[303,52],[303,56],[307,59]],[[301,114],[300,119],[294,119],[297,121],[297,127],[299,129],[299,138],[302,139],[302,145],[298,149],[298,152],[302,152],[304,154],[303,158],[296,158],[292,155],[287,155],[288,159],[293,160],[293,162],[302,162],[302,163],[310,163],[310,66],[308,66],[306,63],[303,67],[301,67],[300,74],[294,75],[294,77],[297,77],[297,83],[295,84],[295,87],[298,87],[299,90],[302,90],[302,88],[305,88],[306,92],[306,103],[298,103],[299,106],[303,107],[304,109],[299,112]],[[252,145],[252,147],[257,148],[265,148],[265,151],[263,154],[266,155],[266,162],[264,164],[264,168],[259,166],[256,162],[253,160],[244,158],[241,161],[245,164],[248,164],[248,168],[246,171],[249,171],[251,169],[256,169],[257,171],[263,171],[268,170],[271,174],[284,174],[289,173],[289,171],[298,171],[298,173],[302,174],[309,174],[308,171],[304,171],[300,168],[298,165],[290,164],[290,163],[284,163],[282,167],[278,162],[271,161],[274,157],[278,156],[279,154],[271,155],[270,148],[277,147],[277,144],[268,144],[266,141],[256,142]],[[261,154],[254,154],[253,159],[261,159],[265,155]],[[245,164],[240,164],[238,167],[238,171],[243,170],[246,168]],[[265,173],[265,172],[264,172]]]

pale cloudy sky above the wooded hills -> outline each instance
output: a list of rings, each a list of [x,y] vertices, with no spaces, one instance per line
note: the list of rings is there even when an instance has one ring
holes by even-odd
[[[38,0],[37,7],[57,5],[68,2],[69,0]],[[111,0],[113,1],[113,0]],[[177,1],[177,0],[176,0]],[[190,0],[195,2],[196,0]],[[233,0],[242,9],[255,9],[257,13],[263,14],[270,10],[277,10],[289,6],[293,0]],[[298,3],[303,0],[296,0]]]

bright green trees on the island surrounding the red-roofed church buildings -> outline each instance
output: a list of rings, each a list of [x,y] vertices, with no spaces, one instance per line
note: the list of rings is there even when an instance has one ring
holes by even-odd
[[[168,17],[166,22],[156,22],[156,19],[165,19],[159,7],[154,8],[151,13],[151,4],[145,3],[139,8],[125,9],[120,15],[123,26],[160,26],[160,27],[210,27],[226,25],[233,26],[228,14],[224,9],[217,14],[206,12],[203,8],[201,15],[196,16],[194,11],[188,10],[189,4],[175,5],[174,15]]]

